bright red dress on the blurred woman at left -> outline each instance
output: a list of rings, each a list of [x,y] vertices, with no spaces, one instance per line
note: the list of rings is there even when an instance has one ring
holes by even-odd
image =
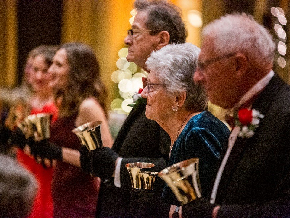
[[[41,110],[32,109],[31,114],[51,113],[53,114],[52,123],[58,117],[58,110],[55,104],[47,104]],[[53,169],[45,169],[37,163],[33,157],[24,154],[21,149],[17,151],[18,162],[29,170],[38,181],[38,191],[33,203],[32,211],[28,218],[53,218],[53,202],[51,196],[51,181]]]

